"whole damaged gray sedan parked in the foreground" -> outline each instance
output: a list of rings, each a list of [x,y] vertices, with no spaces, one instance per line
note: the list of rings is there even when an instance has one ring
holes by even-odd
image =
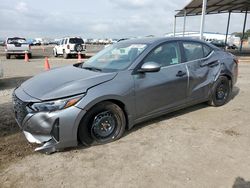
[[[235,56],[200,40],[125,40],[29,79],[13,106],[28,141],[51,153],[117,140],[126,128],[197,103],[224,105],[237,76]]]

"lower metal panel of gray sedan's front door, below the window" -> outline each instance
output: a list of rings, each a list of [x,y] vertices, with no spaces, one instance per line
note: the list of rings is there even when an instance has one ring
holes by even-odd
[[[187,74],[184,65],[164,67],[160,72],[134,75],[137,117],[151,115],[183,104],[186,100]]]

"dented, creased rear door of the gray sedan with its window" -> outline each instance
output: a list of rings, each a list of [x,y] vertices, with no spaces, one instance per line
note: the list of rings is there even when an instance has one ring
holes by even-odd
[[[183,42],[186,67],[189,73],[188,98],[190,101],[207,99],[219,63],[212,49],[202,43]]]

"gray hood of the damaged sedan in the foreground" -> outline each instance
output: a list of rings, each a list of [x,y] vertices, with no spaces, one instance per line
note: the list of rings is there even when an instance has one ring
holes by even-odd
[[[72,65],[41,73],[20,87],[31,97],[44,101],[84,93],[116,75],[117,73],[94,72]]]

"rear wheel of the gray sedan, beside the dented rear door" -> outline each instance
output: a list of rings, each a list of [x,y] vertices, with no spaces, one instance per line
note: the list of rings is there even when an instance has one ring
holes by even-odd
[[[231,91],[230,80],[225,76],[220,76],[214,83],[208,104],[211,106],[222,106],[226,104],[230,99]]]

